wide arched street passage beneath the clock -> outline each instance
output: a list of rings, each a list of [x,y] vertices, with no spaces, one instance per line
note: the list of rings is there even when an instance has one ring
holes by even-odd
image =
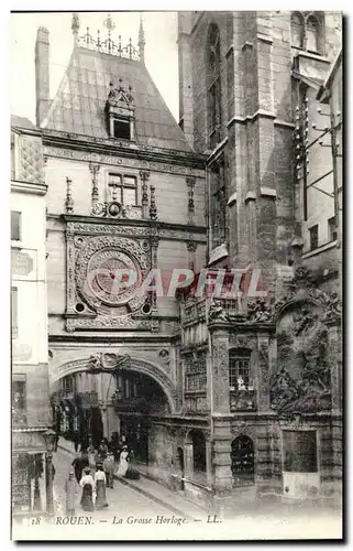
[[[121,442],[131,446],[135,460],[147,463],[151,425],[175,410],[174,382],[151,363],[128,357],[113,369],[104,367],[102,356],[97,354],[93,368],[88,357],[54,370],[56,399],[52,401],[62,404],[62,420],[66,413],[73,418],[66,423],[66,436],[74,440],[76,431],[80,443],[91,439],[97,447],[102,436],[110,440],[115,433],[117,439],[118,433]]]

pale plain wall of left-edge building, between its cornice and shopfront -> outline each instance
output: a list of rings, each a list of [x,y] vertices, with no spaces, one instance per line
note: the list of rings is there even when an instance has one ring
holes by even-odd
[[[12,241],[11,248],[11,285],[18,290],[12,378],[25,380],[29,425],[45,426],[48,378],[44,190],[33,193],[25,184],[12,182],[11,210],[21,213],[21,240]]]

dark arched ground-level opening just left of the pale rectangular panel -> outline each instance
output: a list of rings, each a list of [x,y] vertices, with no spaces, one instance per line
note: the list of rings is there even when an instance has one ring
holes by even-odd
[[[255,482],[254,443],[240,435],[232,442],[231,468],[234,486],[252,486]]]

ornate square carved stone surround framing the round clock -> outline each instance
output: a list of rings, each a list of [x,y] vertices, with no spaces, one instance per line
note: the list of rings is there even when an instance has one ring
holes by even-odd
[[[150,228],[67,222],[66,328],[73,331],[141,328],[155,320],[146,298],[134,291],[152,266],[157,246]],[[115,269],[136,270],[136,284],[113,287]]]

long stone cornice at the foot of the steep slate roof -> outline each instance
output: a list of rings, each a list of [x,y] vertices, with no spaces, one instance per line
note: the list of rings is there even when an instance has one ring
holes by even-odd
[[[150,148],[136,143],[117,142],[103,138],[90,138],[55,130],[43,130],[43,144],[47,147],[62,148],[66,150],[96,153],[111,156],[124,156],[181,165],[189,169],[205,169],[206,155],[201,153],[188,153],[178,150],[162,148]],[[44,154],[51,154],[44,152]],[[59,156],[59,155],[57,155]],[[65,156],[65,155],[63,155]]]

